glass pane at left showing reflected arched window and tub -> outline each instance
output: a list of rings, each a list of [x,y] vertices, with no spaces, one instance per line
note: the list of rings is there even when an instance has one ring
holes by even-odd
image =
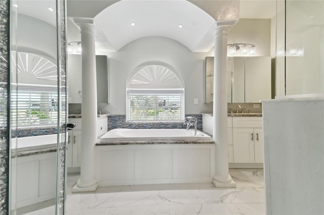
[[[11,4],[11,211],[46,208],[46,214],[55,214],[60,139],[57,1]]]

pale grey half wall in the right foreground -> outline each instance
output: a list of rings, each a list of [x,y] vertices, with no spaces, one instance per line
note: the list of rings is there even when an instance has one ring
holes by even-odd
[[[262,103],[267,214],[324,214],[324,94]]]

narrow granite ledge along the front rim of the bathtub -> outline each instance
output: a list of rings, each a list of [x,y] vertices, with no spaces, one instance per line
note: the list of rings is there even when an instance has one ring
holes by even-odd
[[[206,140],[138,140],[138,141],[99,141],[96,146],[102,145],[154,145],[154,144],[215,144]]]

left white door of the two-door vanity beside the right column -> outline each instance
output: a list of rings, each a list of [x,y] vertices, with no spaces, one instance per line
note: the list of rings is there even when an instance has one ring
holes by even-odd
[[[253,128],[233,128],[234,163],[254,163],[253,132]]]

